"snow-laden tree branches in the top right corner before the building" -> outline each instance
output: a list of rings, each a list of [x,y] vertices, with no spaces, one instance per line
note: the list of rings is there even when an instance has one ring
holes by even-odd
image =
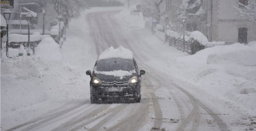
[[[239,7],[234,7],[241,17],[254,23],[254,29],[256,30],[256,0],[241,0],[240,2],[238,3]]]

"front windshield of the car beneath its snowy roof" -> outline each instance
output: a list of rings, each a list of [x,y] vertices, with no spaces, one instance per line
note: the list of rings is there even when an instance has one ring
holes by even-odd
[[[97,62],[96,71],[132,71],[134,63],[131,59],[109,58]]]

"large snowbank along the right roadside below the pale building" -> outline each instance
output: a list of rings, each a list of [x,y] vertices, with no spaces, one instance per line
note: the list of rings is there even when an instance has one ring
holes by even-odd
[[[218,97],[228,97],[256,111],[256,48],[222,45],[176,58],[177,76]]]

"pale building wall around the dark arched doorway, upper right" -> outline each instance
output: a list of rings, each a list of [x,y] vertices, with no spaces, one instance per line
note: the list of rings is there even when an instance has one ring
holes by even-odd
[[[213,0],[212,41],[238,42],[239,28],[247,28],[247,42],[256,40],[253,22],[241,17],[234,0]]]

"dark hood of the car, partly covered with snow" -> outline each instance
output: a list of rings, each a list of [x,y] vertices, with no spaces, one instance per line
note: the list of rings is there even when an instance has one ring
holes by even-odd
[[[137,76],[137,73],[133,73],[129,76],[107,76],[103,74],[94,74],[96,77],[98,77],[102,82],[127,82],[131,79],[133,76]]]

